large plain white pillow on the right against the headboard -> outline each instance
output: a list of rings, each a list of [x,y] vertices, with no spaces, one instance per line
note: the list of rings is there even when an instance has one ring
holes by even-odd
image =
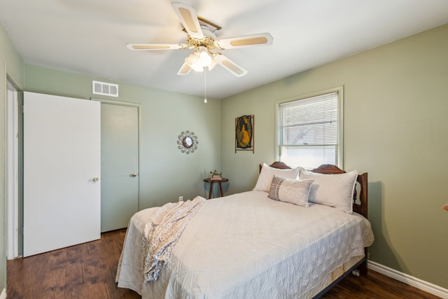
[[[316,174],[300,168],[299,178],[314,179],[309,191],[309,202],[325,204],[342,209],[346,213],[353,212],[353,191],[355,190],[358,171],[345,174]]]

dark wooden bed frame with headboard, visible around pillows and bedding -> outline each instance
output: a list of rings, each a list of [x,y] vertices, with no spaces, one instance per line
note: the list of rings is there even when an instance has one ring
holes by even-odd
[[[288,165],[286,165],[284,162],[273,162],[270,167],[279,168],[279,169],[291,169]],[[260,164],[260,171],[261,171],[262,165]],[[315,169],[312,169],[311,172],[316,172],[318,174],[344,174],[346,171],[340,169],[336,165],[331,164],[323,164]],[[355,191],[353,193],[353,211],[355,211],[358,214],[363,215],[367,219],[367,172],[363,174],[358,174],[358,177],[356,178],[356,181],[359,184],[359,195],[355,188]],[[337,282],[339,282],[341,279],[346,277],[349,273],[351,273],[352,270],[358,269],[361,274],[367,274],[367,248],[364,249],[365,257],[363,260],[361,260],[353,269],[346,272],[346,274],[342,275],[342,277],[339,277],[333,284],[331,284],[328,288],[325,288],[324,291],[328,291],[328,289]],[[322,292],[322,294],[325,292]],[[320,297],[320,296],[316,296]]]

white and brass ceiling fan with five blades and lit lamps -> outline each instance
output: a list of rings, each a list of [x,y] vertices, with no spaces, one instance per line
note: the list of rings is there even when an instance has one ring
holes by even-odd
[[[177,72],[178,75],[187,75],[192,69],[203,71],[204,67],[211,71],[217,64],[220,64],[221,67],[224,67],[235,76],[244,76],[247,73],[245,69],[218,51],[272,44],[272,36],[268,33],[218,40],[214,32],[220,30],[221,27],[198,16],[195,9],[191,6],[180,2],[172,2],[172,6],[188,34],[186,43],[128,43],[126,46],[130,50],[194,49],[195,52],[186,57],[185,62],[183,62],[182,67]]]

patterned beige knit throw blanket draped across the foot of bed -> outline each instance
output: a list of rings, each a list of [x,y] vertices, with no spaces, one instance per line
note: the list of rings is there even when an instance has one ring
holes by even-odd
[[[158,279],[168,265],[169,256],[185,230],[188,221],[200,210],[206,199],[197,196],[186,202],[169,202],[146,223],[141,238],[142,272],[145,281]]]

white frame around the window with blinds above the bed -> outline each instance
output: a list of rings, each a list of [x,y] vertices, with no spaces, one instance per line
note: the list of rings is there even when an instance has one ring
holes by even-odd
[[[281,157],[280,157],[280,146],[281,146],[280,145],[280,116],[279,116],[281,104],[284,104],[287,102],[300,101],[302,99],[309,99],[311,97],[326,95],[326,94],[329,94],[332,92],[337,92],[337,98],[338,98],[337,109],[339,112],[339,130],[337,132],[338,150],[337,150],[336,166],[344,169],[344,159],[343,159],[344,158],[344,86],[339,86],[337,88],[330,88],[328,90],[321,90],[318,92],[311,92],[306,95],[300,95],[300,96],[291,97],[288,99],[280,99],[275,102],[275,123],[276,123],[275,157],[276,157],[276,160],[281,161]],[[288,161],[282,161],[282,162],[286,162],[286,164],[288,164]],[[311,169],[319,166],[319,165],[293,165],[293,163],[291,163],[291,162],[289,162],[288,165],[290,167],[300,166],[300,167],[311,168]]]

